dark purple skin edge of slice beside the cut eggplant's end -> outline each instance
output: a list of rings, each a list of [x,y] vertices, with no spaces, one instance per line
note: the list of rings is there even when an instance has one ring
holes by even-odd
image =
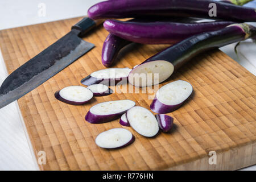
[[[81,84],[86,85],[86,86],[90,86],[93,84],[104,84],[106,86],[113,86],[118,84],[118,82],[122,81],[123,79],[127,79],[127,77],[123,77],[123,78],[116,78],[116,79],[99,79],[99,78],[95,78],[92,77],[90,75],[86,76],[85,78],[82,78],[81,80]]]

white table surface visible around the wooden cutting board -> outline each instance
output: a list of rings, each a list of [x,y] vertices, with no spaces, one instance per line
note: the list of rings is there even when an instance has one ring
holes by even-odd
[[[0,30],[86,15],[101,0],[0,0]],[[46,16],[38,14],[40,3],[46,5]],[[253,5],[253,4],[252,4]],[[256,5],[256,1],[254,1]],[[251,40],[238,46],[221,48],[230,57],[256,75],[256,44]],[[0,52],[0,84],[7,71]],[[0,170],[38,170],[35,154],[27,135],[17,102],[0,109]],[[255,170],[256,165],[243,170]]]

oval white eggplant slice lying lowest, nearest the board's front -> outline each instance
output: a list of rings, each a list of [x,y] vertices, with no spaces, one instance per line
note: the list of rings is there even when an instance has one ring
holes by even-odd
[[[129,130],[117,128],[100,133],[95,143],[101,148],[121,148],[133,143],[134,139]]]

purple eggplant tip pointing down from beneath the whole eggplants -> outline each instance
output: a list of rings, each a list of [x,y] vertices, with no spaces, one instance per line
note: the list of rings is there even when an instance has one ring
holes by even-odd
[[[131,43],[132,42],[128,40],[124,40],[113,34],[109,34],[102,47],[102,55],[101,55],[102,64],[105,67],[110,67],[114,63],[115,58],[118,55],[118,52],[123,47]]]

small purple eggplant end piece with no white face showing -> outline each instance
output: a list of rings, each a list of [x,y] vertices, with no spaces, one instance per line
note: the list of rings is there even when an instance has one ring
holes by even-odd
[[[172,129],[172,126],[174,125],[174,118],[170,117],[170,115],[156,114],[155,117],[163,132],[168,132]]]

